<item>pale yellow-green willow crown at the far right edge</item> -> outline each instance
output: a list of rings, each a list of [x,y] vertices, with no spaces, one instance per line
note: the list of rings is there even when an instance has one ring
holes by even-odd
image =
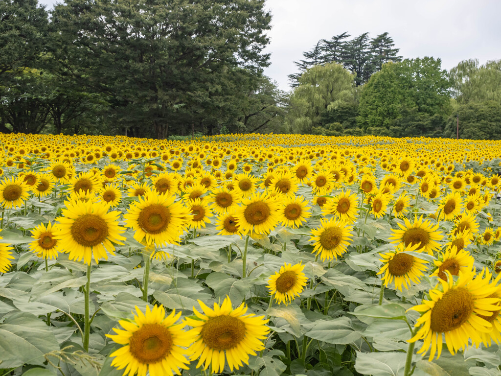
[[[450,70],[452,94],[459,104],[494,100],[501,103],[501,60],[479,65],[478,60],[460,62]]]

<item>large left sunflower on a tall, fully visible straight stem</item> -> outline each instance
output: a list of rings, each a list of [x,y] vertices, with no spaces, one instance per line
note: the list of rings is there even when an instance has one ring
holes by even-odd
[[[114,255],[115,246],[123,244],[121,235],[125,229],[118,225],[120,213],[108,212],[108,205],[92,201],[66,203],[64,217],[57,219],[59,230],[55,238],[70,260],[84,260],[91,264],[92,256],[96,263],[108,259],[106,251]]]

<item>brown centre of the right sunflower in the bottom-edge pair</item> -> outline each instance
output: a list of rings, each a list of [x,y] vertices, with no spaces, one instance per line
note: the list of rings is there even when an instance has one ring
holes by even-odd
[[[245,324],[228,315],[209,317],[203,324],[201,337],[212,350],[229,350],[236,347],[245,337]]]

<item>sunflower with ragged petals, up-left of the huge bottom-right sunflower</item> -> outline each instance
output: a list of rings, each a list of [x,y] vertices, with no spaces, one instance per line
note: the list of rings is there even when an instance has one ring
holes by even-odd
[[[395,288],[402,291],[402,285],[408,289],[410,282],[419,283],[424,272],[428,269],[428,261],[422,260],[418,257],[409,255],[403,252],[412,252],[417,249],[417,244],[404,245],[400,243],[397,245],[395,251],[380,254],[383,265],[379,269],[379,274],[384,275],[381,277],[381,283],[384,286],[392,283],[395,280]]]

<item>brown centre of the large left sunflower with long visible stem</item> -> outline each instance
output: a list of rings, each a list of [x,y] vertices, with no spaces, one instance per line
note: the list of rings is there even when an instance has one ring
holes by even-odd
[[[108,236],[108,224],[95,214],[86,214],[75,220],[71,226],[71,235],[78,244],[94,247]]]

